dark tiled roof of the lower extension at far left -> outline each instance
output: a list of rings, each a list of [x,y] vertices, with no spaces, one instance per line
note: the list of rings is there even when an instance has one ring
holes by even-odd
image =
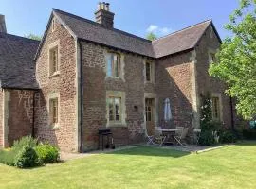
[[[38,44],[0,32],[0,88],[38,89],[33,61]]]

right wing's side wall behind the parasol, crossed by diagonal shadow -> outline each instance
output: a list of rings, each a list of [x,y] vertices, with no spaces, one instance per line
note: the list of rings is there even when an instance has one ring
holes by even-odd
[[[182,56],[182,55],[181,55]],[[164,120],[164,100],[171,101],[172,128],[192,129],[192,71],[189,57],[166,58],[156,63],[156,93],[159,100],[159,121]]]

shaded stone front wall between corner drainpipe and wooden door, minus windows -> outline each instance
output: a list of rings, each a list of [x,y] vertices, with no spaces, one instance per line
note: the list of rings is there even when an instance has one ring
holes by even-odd
[[[125,94],[125,125],[110,125],[118,145],[137,143],[144,136],[144,93],[155,93],[154,84],[144,84],[145,58],[119,52],[123,57],[123,78],[106,78],[104,53],[113,50],[82,42],[83,76],[83,148],[98,146],[98,129],[105,128],[106,92]],[[135,109],[137,106],[137,110]]]

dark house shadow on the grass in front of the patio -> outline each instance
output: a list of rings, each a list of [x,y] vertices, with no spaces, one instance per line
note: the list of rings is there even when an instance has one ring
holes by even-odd
[[[153,157],[172,157],[172,158],[180,158],[182,156],[186,156],[191,154],[190,152],[185,151],[177,151],[174,149],[164,149],[158,147],[148,147],[148,146],[139,146],[135,148],[122,149],[119,151],[107,152],[107,154],[115,154],[115,155],[129,155],[129,156],[153,156]]]

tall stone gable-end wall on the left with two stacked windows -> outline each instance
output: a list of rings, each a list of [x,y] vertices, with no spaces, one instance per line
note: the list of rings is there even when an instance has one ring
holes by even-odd
[[[77,151],[77,113],[76,113],[76,43],[67,29],[56,20],[56,28],[51,25],[46,32],[38,57],[36,77],[41,92],[36,95],[36,133],[41,140],[47,140],[60,146],[64,151]],[[59,70],[55,76],[48,76],[48,47],[59,43]],[[48,98],[51,94],[59,94],[58,128],[49,126]]]

